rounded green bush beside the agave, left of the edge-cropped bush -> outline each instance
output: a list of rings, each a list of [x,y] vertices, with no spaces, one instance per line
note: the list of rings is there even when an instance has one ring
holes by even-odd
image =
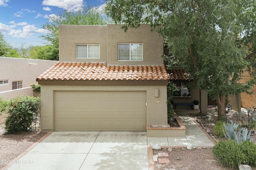
[[[239,145],[239,143],[231,139],[219,141],[213,147],[212,152],[220,164],[235,168],[241,163],[246,163],[248,159]]]

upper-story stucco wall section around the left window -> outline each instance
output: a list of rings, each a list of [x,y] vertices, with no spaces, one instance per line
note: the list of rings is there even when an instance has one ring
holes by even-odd
[[[99,44],[99,59],[76,58],[76,44]],[[59,61],[107,62],[106,25],[60,25]]]

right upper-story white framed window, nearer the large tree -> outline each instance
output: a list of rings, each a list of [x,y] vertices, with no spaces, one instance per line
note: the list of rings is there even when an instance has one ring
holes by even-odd
[[[118,44],[118,60],[142,60],[142,43]]]

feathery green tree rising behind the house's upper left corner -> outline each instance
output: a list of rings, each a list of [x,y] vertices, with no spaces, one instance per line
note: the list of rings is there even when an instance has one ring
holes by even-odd
[[[64,10],[57,17],[50,16],[50,20],[51,22],[42,25],[42,28],[48,30],[48,33],[41,36],[53,48],[52,50],[47,49],[48,54],[52,55],[48,56],[50,60],[58,60],[59,58],[59,25],[105,25],[107,22],[96,8],[89,6],[81,8],[77,12]]]

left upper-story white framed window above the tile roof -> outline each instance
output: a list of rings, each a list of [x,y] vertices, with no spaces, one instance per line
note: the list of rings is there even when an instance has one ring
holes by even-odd
[[[77,44],[76,58],[100,58],[99,44]]]

